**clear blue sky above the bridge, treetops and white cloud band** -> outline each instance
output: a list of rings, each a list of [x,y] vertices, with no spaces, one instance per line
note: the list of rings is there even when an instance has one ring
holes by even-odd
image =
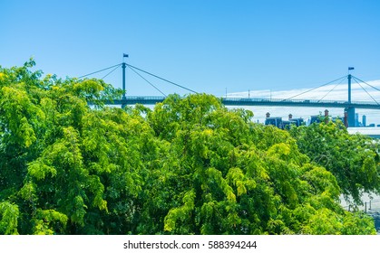
[[[348,66],[361,80],[380,80],[378,0],[0,0],[0,23],[1,66],[33,56],[37,70],[63,78],[128,53],[133,66],[219,97],[309,89]],[[143,76],[165,94],[189,93]],[[104,80],[122,88],[122,69]],[[161,95],[129,69],[127,94]]]

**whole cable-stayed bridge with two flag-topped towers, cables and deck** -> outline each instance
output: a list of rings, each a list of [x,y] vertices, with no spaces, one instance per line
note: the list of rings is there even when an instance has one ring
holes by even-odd
[[[127,54],[123,54],[123,58],[128,57]],[[152,74],[149,71],[146,70],[141,70],[140,68],[137,68],[135,66],[132,66],[131,64],[128,64],[126,62],[122,62],[116,65],[113,65],[111,67],[102,69],[102,70],[97,70],[92,73],[89,73],[87,75],[83,75],[82,77],[79,77],[79,79],[86,78],[88,76],[91,76],[95,73],[102,72],[105,70],[111,70],[108,72],[102,79],[110,75],[114,70],[117,70],[118,68],[122,67],[122,90],[123,90],[123,95],[121,99],[115,99],[112,102],[108,102],[108,104],[112,105],[120,105],[120,106],[126,106],[126,105],[135,105],[135,104],[142,104],[142,105],[155,105],[156,103],[162,102],[165,98],[166,95],[159,89],[157,86],[151,83],[151,81],[147,80],[142,76],[142,74],[147,74],[150,75],[151,77],[154,77],[159,80],[166,81],[170,83],[171,85],[174,85],[176,87],[179,87],[180,89],[185,89],[187,91],[190,91],[191,93],[198,93],[195,90],[186,88],[184,86],[181,86],[178,83],[172,82],[171,80],[166,80],[161,78],[158,75]],[[131,69],[134,73],[136,73],[138,76],[141,77],[141,79],[145,80],[147,83],[151,85],[154,89],[157,89],[162,96],[126,96],[125,94],[125,70],[126,68]],[[353,67],[348,67],[349,70],[354,70]],[[142,74],[141,74],[142,73]],[[331,85],[333,83],[336,83],[337,81],[342,80],[347,80],[347,100],[324,100],[324,99],[297,99],[300,95],[304,95],[308,92],[312,92],[316,89],[325,87],[327,85]],[[352,81],[356,81],[356,83],[365,90],[367,95],[373,99],[373,101],[369,102],[358,102],[358,101],[352,101],[351,99],[351,85]],[[297,108],[344,108],[345,111],[345,116],[347,117],[347,123],[348,126],[355,126],[355,114],[356,114],[356,108],[361,108],[361,109],[375,109],[378,110],[380,109],[380,104],[371,96],[371,94],[364,88],[363,85],[367,85],[368,87],[371,87],[372,89],[375,89],[377,91],[380,91],[380,89],[368,84],[364,80],[360,80],[356,78],[355,76],[348,74],[344,77],[341,77],[336,80],[329,81],[323,85],[318,86],[317,88],[313,89],[308,89],[304,92],[301,92],[295,96],[292,96],[290,98],[221,98],[221,102],[226,105],[226,106],[252,106],[252,107],[297,107]],[[337,84],[336,84],[337,86]],[[333,88],[335,89],[336,86]],[[333,89],[330,89],[328,93],[330,93]],[[326,95],[323,97],[325,98]]]

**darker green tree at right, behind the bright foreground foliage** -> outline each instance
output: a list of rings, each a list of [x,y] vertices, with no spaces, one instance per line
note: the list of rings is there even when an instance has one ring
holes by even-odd
[[[349,135],[338,121],[290,130],[299,150],[336,176],[346,199],[360,203],[363,192],[380,192],[379,143],[368,136]]]

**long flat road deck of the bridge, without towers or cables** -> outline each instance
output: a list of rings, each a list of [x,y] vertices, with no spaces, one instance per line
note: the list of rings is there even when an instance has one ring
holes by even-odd
[[[155,105],[165,97],[128,96],[124,99],[115,99],[107,104],[112,105]],[[282,98],[220,98],[226,106],[269,106],[269,107],[304,107],[304,108],[362,108],[380,109],[375,102],[351,102],[314,99],[282,99]]]

